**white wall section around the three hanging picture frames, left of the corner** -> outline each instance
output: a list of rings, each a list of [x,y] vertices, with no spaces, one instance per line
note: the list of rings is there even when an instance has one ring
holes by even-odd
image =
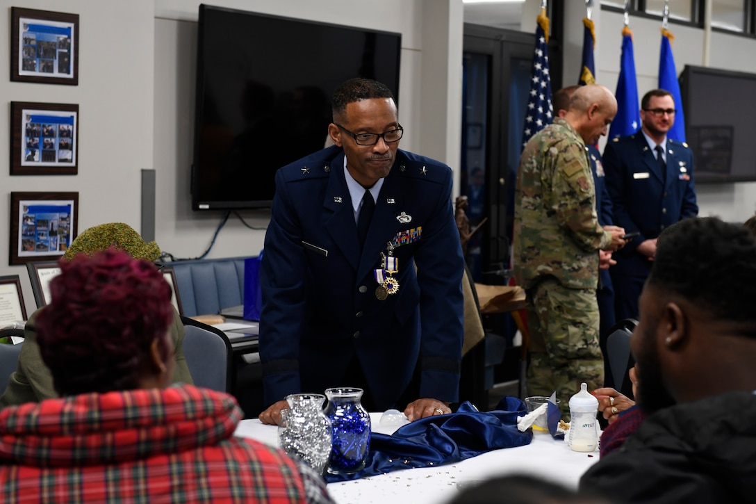
[[[79,14],[79,86],[10,82],[11,6]],[[140,225],[141,169],[153,164],[153,0],[0,0],[0,275],[19,275],[27,313],[35,310],[24,266],[8,266],[11,191],[78,191],[79,231],[101,222]],[[79,104],[79,174],[10,176],[10,102]]]

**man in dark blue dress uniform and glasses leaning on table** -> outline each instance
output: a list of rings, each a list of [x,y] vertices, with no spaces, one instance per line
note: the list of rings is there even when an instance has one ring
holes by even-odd
[[[398,148],[392,92],[333,95],[333,146],[278,170],[260,282],[265,424],[287,394],[361,387],[415,420],[458,400],[464,269],[451,169]]]

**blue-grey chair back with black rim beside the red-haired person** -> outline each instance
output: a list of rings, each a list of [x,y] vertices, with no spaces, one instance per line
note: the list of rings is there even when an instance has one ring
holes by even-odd
[[[231,341],[212,325],[181,317],[184,322],[184,356],[192,381],[197,387],[231,392]]]

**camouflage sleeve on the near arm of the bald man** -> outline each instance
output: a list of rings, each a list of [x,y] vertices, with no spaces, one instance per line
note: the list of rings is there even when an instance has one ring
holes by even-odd
[[[560,152],[552,185],[552,201],[559,225],[569,229],[583,250],[598,250],[612,243],[612,235],[599,225],[596,192],[584,148],[572,143]]]

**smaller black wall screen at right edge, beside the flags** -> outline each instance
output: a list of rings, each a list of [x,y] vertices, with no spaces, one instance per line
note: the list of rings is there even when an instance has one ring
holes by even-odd
[[[696,183],[756,180],[756,75],[686,65],[680,95]]]

